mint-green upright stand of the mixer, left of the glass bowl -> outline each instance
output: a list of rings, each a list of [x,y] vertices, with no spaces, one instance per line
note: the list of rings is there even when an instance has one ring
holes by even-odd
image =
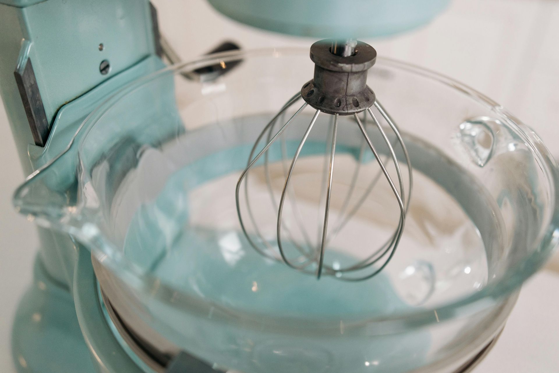
[[[88,1],[0,1],[0,93],[25,174],[60,154],[108,95],[164,67],[156,31],[157,13],[148,1],[101,1],[94,7]],[[75,178],[75,161],[66,167],[61,185]],[[96,290],[89,251],[55,229],[39,228],[39,237],[34,283],[13,325],[18,371],[141,371],[110,329],[102,328],[96,292],[81,303],[91,304],[79,307],[76,280],[83,277],[89,282],[82,288]],[[76,271],[80,255],[90,272]],[[95,315],[96,338],[103,343],[88,347],[94,328],[84,328],[84,319]],[[103,344],[106,353],[91,350]],[[103,362],[87,356],[97,353]]]

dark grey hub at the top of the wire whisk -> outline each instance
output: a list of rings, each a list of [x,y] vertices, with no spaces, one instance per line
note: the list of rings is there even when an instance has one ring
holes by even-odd
[[[303,85],[302,98],[328,114],[350,115],[375,103],[375,93],[367,86],[368,70],[375,64],[376,50],[362,42],[320,40],[312,44],[310,58],[315,63],[314,78]]]

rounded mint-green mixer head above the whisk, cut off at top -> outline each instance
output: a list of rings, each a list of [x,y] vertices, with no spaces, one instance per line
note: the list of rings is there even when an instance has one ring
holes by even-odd
[[[314,38],[399,34],[431,21],[450,0],[208,0],[231,19],[281,34]],[[366,9],[374,9],[368,11]]]

